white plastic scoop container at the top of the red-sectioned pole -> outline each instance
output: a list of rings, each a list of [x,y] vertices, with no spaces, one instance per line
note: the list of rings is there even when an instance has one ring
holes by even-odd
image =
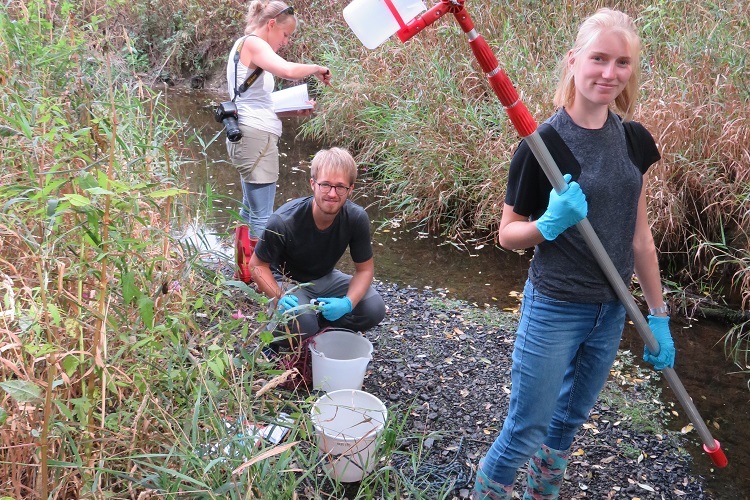
[[[427,10],[421,0],[392,0],[404,23]],[[384,0],[354,0],[344,7],[344,19],[362,45],[374,49],[400,26]]]

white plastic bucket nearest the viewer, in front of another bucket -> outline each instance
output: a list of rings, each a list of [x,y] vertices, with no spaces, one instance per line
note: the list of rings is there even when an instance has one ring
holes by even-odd
[[[344,389],[324,394],[310,411],[323,467],[342,483],[361,481],[377,462],[377,438],[388,410],[364,391]]]

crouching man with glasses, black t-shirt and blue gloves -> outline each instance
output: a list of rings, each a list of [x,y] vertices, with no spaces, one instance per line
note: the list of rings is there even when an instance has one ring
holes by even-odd
[[[372,287],[370,219],[348,199],[357,165],[345,149],[331,148],[318,151],[310,170],[312,196],[268,219],[250,259],[253,280],[281,312],[293,309],[289,331],[303,339],[325,326],[368,330],[385,316],[385,303]],[[335,268],[347,247],[353,275]],[[309,307],[313,300],[318,308]]]

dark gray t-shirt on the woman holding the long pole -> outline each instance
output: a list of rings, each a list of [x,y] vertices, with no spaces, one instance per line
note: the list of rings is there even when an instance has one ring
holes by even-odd
[[[564,109],[547,122],[578,161],[580,175],[574,175],[574,180],[586,195],[588,220],[623,281],[629,285],[633,275],[633,235],[638,198],[643,173],[648,166],[639,168],[633,163],[628,154],[623,124],[612,112],[604,126],[596,130],[579,127]],[[653,138],[650,139],[653,142]],[[530,168],[530,163],[536,164],[529,161],[527,155],[530,154],[527,147],[523,151],[519,148],[511,162],[509,178],[523,177],[523,174],[514,175],[514,168]],[[563,172],[571,170],[565,167],[560,165]],[[536,168],[539,168],[538,164]],[[576,171],[575,168],[572,170]],[[506,203],[513,205],[521,215],[538,218],[543,210],[523,213],[516,209],[517,202],[518,206],[524,206],[526,194],[523,188],[519,189],[519,185],[523,186],[523,183],[511,185],[509,182]],[[541,293],[560,300],[581,303],[617,300],[613,288],[575,227],[568,228],[553,241],[543,241],[535,247],[529,279]]]

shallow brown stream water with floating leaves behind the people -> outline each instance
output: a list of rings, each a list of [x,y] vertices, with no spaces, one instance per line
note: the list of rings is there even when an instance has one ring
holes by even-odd
[[[209,103],[221,99],[222,96],[200,91],[170,91],[167,102],[174,115],[187,122],[189,135],[197,133],[204,141],[209,141],[220,129],[213,121]],[[295,126],[294,120],[285,120],[285,133],[279,144],[282,159],[277,207],[286,200],[310,193],[307,166],[320,145],[295,140]],[[226,162],[223,135],[207,148],[205,160],[198,151],[191,154],[199,160],[185,169],[190,189],[206,192],[210,185],[215,195],[222,195],[214,201],[212,212],[203,215],[200,229],[206,233],[204,241],[227,248],[231,240],[226,229],[231,221],[230,211],[238,211],[242,189],[239,176]],[[394,225],[381,227],[378,221],[386,219],[387,214],[380,212],[378,195],[366,183],[357,183],[354,201],[368,207],[375,222],[377,279],[402,286],[440,288],[449,298],[479,306],[517,308],[517,293],[523,289],[528,270],[528,254],[503,251],[494,246],[459,250],[428,234]],[[231,248],[226,251],[231,255]],[[749,499],[750,452],[744,443],[750,440],[750,391],[747,375],[738,373],[736,366],[724,356],[723,336],[728,328],[710,321],[687,322],[674,318],[672,332],[678,353],[675,369],[729,460],[728,467],[713,468],[701,449],[700,438],[692,431],[692,446],[688,451],[694,457],[696,474],[706,479],[711,498]],[[633,328],[626,327],[622,347],[634,353],[643,351],[643,342]],[[673,405],[675,415],[670,426],[680,430],[689,421],[667,384],[662,381],[662,385],[662,399]]]

